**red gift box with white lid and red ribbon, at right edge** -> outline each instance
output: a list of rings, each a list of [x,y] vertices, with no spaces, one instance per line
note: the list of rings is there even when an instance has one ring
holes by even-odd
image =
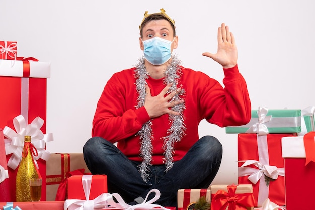
[[[287,210],[314,209],[315,132],[304,136],[283,137]]]

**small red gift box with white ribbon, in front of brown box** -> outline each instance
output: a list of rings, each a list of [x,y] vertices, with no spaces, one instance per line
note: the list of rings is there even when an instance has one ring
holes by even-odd
[[[68,199],[86,200],[83,186],[83,179],[86,177],[91,179],[89,200],[107,192],[106,175],[74,175],[68,178]]]

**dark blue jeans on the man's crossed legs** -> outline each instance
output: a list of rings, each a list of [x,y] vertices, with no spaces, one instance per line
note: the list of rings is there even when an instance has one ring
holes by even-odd
[[[115,145],[101,137],[89,139],[83,153],[91,173],[106,174],[108,192],[119,193],[126,203],[143,200],[156,188],[161,192],[156,204],[177,207],[178,189],[209,187],[221,164],[222,145],[212,136],[202,137],[168,172],[164,172],[165,165],[151,166],[147,183],[138,172],[140,162],[129,160]],[[149,199],[153,196],[151,193]]]

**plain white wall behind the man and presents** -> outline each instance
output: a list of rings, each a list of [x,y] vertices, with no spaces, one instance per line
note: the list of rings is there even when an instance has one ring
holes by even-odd
[[[0,0],[0,39],[18,42],[18,56],[51,63],[47,87],[50,152],[82,152],[90,138],[96,103],[117,71],[142,56],[138,26],[146,10],[164,8],[175,19],[185,67],[222,84],[221,67],[203,52],[216,52],[217,27],[225,22],[238,45],[238,65],[252,108],[303,109],[315,105],[315,2],[308,1],[101,1]],[[200,124],[224,147],[214,183],[237,183],[237,135]]]

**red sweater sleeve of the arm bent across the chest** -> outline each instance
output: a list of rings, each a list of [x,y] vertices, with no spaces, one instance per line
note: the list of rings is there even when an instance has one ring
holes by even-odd
[[[132,95],[127,95],[126,87],[121,85],[117,76],[107,82],[97,103],[92,137],[100,136],[115,143],[134,135],[150,120],[145,108],[135,109]],[[126,99],[128,97],[131,98]],[[132,106],[128,106],[128,103]]]

